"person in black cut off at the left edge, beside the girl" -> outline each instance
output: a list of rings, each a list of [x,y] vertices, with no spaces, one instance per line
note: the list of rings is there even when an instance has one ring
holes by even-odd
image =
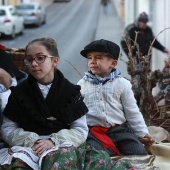
[[[27,78],[27,74],[18,70],[12,55],[6,52],[5,46],[0,44],[0,127],[2,125],[2,111],[11,93],[10,88],[15,87],[25,78]]]

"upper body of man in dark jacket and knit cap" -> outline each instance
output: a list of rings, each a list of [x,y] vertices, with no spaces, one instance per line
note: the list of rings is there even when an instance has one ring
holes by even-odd
[[[125,33],[124,33],[125,37],[123,37],[121,40],[121,46],[127,55],[129,53],[129,50],[127,47],[126,39],[129,38],[131,40],[130,43],[134,44],[136,32],[138,32],[136,42],[139,45],[140,54],[142,56],[145,56],[148,54],[150,45],[155,38],[152,29],[147,24],[148,21],[149,21],[148,15],[145,12],[142,12],[139,14],[137,20],[134,23],[129,24],[125,28]],[[157,39],[154,41],[153,47],[164,53],[167,53],[167,54],[170,53],[169,50],[166,47],[164,47]],[[133,56],[136,56],[136,52],[137,52],[137,49],[135,48],[133,50]],[[138,60],[137,60],[137,63],[138,63]]]

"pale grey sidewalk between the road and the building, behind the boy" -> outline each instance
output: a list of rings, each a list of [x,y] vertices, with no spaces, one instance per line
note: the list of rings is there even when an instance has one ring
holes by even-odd
[[[106,39],[109,41],[113,41],[120,46],[120,40],[123,36],[123,31],[124,24],[117,15],[113,1],[110,1],[107,13],[104,13],[103,6],[101,5],[95,40]],[[123,77],[130,80],[130,75],[127,73],[126,66],[126,61],[128,59],[122,49],[121,52],[122,56],[119,58],[116,68],[121,71]]]

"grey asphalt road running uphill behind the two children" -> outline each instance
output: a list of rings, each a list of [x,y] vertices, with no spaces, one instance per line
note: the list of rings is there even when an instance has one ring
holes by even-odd
[[[85,45],[94,40],[100,11],[99,0],[71,0],[52,3],[46,8],[47,23],[29,26],[15,40],[1,38],[8,48],[20,48],[34,38],[50,36],[57,41],[60,63],[58,68],[72,83],[87,71],[87,60],[80,55]]]

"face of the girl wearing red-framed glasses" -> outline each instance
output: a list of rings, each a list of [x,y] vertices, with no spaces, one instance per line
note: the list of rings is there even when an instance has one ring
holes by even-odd
[[[46,56],[43,63],[37,63],[35,57]],[[51,56],[45,46],[33,43],[28,46],[26,57],[33,59],[32,64],[28,65],[29,73],[40,83],[47,83],[54,79],[54,69],[59,61],[56,56]],[[55,57],[55,58],[52,58]]]

